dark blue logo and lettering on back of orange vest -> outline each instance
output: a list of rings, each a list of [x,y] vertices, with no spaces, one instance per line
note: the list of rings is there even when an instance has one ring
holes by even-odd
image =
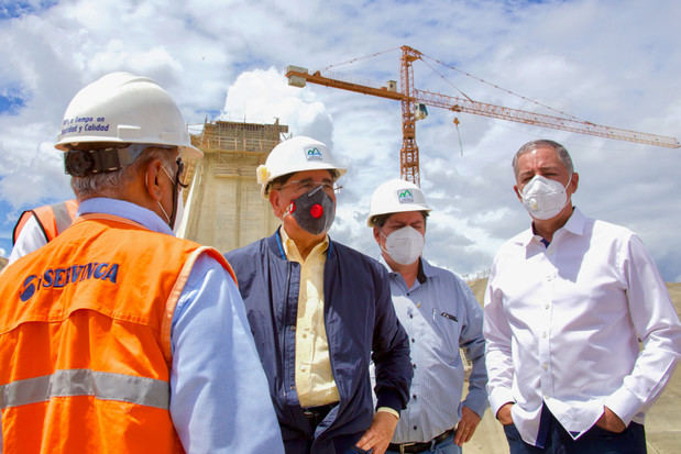
[[[23,280],[19,297],[22,301],[31,299],[36,291],[43,288],[63,288],[70,284],[81,283],[86,279],[109,280],[116,284],[119,264],[89,263],[87,265],[73,265],[65,268],[46,269],[42,276],[31,275]]]

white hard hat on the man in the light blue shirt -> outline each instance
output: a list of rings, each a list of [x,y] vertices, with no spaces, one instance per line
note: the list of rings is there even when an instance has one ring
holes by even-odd
[[[375,217],[380,214],[431,210],[418,186],[403,179],[392,179],[378,186],[371,196],[366,225],[374,226]]]

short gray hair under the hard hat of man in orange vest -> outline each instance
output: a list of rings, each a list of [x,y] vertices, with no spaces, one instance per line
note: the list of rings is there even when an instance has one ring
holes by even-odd
[[[175,154],[168,150],[157,148],[150,145],[138,158],[121,169],[101,174],[91,174],[86,177],[72,177],[70,187],[81,198],[111,197],[120,192],[121,188],[133,180],[138,170],[152,159],[160,159],[163,166],[172,169],[175,163]],[[173,175],[173,173],[171,173]]]

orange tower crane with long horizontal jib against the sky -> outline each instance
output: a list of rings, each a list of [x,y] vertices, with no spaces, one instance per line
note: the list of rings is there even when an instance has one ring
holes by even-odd
[[[409,46],[402,46],[399,64],[400,89],[395,81],[388,81],[387,87],[371,87],[354,84],[338,78],[327,77],[321,71],[310,74],[306,68],[289,65],[286,69],[288,85],[305,87],[306,82],[340,88],[364,95],[393,99],[402,103],[402,150],[399,152],[399,174],[403,179],[420,185],[418,145],[416,144],[416,121],[422,114],[422,106],[432,106],[448,109],[453,112],[465,112],[491,117],[537,126],[552,128],[596,135],[600,137],[636,142],[648,145],[679,148],[681,144],[675,137],[661,136],[644,132],[605,126],[568,117],[548,115],[477,102],[466,98],[452,97],[428,90],[420,90],[414,86],[414,62],[421,59],[424,54]]]

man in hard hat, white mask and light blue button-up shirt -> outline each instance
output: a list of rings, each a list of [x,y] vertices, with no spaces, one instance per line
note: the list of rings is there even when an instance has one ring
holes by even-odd
[[[402,179],[382,184],[371,198],[367,225],[391,272],[414,364],[409,405],[388,453],[461,453],[487,407],[482,309],[461,278],[421,256],[430,211],[421,189]],[[463,400],[459,348],[473,365]]]

